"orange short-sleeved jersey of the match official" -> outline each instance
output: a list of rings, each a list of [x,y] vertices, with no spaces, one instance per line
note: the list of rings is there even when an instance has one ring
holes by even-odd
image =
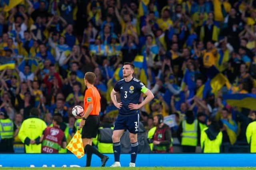
[[[96,87],[90,87],[85,91],[84,95],[84,111],[86,111],[89,104],[93,104],[93,109],[90,115],[100,114],[100,93]]]

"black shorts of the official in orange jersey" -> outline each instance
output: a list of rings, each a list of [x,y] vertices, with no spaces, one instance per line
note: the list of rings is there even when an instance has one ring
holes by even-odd
[[[100,127],[100,116],[89,115],[82,129],[82,138],[95,138]]]

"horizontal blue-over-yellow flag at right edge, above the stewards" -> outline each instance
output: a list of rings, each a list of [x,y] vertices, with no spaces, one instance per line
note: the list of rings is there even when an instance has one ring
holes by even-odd
[[[223,96],[230,106],[256,110],[256,94],[227,94]]]

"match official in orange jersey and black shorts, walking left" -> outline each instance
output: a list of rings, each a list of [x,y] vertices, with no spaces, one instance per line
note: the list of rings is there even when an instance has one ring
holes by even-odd
[[[92,147],[92,138],[98,134],[100,127],[100,94],[94,87],[96,75],[93,72],[86,72],[84,75],[84,85],[87,87],[84,95],[84,116],[80,122],[82,129],[82,141],[86,151],[86,166],[91,166],[92,153],[101,158],[101,166],[105,166],[108,156],[103,155]]]

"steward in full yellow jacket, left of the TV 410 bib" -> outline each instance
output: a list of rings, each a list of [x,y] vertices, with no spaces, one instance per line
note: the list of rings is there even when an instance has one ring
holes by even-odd
[[[18,133],[20,140],[25,144],[26,153],[41,153],[40,138],[47,125],[38,115],[37,108],[30,109],[30,117],[23,121]]]

